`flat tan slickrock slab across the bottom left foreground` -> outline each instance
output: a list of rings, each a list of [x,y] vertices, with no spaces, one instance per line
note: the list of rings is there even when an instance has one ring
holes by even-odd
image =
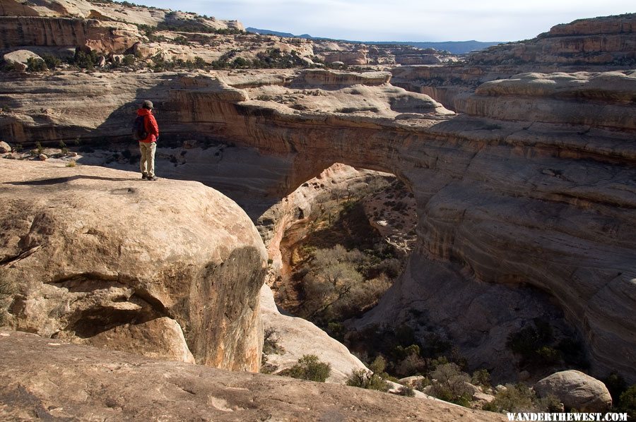
[[[434,400],[155,361],[23,332],[0,332],[0,354],[6,420],[505,420]]]

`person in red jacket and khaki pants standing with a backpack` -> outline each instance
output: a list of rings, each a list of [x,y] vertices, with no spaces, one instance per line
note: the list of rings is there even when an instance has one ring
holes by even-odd
[[[141,179],[158,180],[155,177],[155,150],[157,150],[157,140],[159,138],[159,126],[155,116],[153,116],[153,103],[144,101],[141,109],[137,110],[135,121],[135,138],[139,140],[139,150],[141,159],[139,167],[141,169]]]

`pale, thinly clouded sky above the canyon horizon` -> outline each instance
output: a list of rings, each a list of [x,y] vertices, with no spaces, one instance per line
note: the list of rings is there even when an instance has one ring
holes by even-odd
[[[517,41],[635,13],[633,0],[131,0],[295,35],[357,41]]]

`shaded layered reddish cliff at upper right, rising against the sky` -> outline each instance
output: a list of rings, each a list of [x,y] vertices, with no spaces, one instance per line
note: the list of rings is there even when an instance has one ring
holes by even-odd
[[[482,83],[520,73],[625,71],[636,64],[636,14],[575,20],[532,40],[473,53],[466,64],[394,68],[394,85],[430,95],[455,111]]]

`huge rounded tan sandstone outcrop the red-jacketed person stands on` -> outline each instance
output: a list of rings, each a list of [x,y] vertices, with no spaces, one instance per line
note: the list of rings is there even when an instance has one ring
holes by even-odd
[[[197,182],[8,159],[0,186],[7,325],[259,369],[266,252],[232,200]]]

